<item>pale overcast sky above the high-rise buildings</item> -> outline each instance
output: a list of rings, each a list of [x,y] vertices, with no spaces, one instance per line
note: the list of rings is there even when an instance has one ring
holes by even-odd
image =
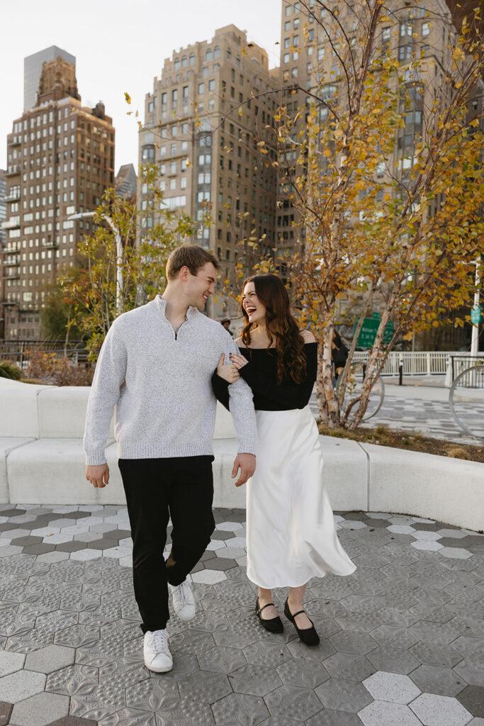
[[[7,134],[23,112],[23,59],[52,45],[76,59],[83,105],[102,100],[116,129],[115,173],[138,160],[137,126],[126,116],[160,77],[165,58],[234,23],[279,65],[281,0],[19,0],[1,3],[0,168],[7,166]]]

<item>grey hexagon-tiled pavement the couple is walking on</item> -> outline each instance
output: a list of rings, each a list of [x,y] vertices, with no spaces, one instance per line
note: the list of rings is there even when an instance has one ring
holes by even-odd
[[[307,648],[258,624],[245,513],[215,515],[197,614],[152,674],[126,507],[0,505],[0,726],[484,726],[483,535],[335,515],[358,569],[311,580]]]

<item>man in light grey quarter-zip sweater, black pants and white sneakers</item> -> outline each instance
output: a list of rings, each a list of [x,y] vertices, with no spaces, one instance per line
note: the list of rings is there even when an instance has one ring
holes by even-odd
[[[113,322],[99,354],[89,396],[84,446],[86,478],[109,481],[104,455],[116,407],[115,438],[133,539],[133,577],[144,632],[144,663],[171,670],[166,623],[168,583],[179,617],[194,617],[186,575],[215,527],[212,438],[216,399],[210,379],[235,343],[203,308],[219,263],[207,250],[183,245],[168,258],[163,295]],[[232,477],[245,484],[255,470],[255,412],[242,379],[229,388],[239,439]],[[171,516],[172,547],[163,560]]]

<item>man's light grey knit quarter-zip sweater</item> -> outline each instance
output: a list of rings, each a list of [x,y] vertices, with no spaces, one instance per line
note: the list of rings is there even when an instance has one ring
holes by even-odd
[[[123,313],[104,339],[86,415],[86,463],[104,464],[115,409],[120,459],[213,454],[216,397],[211,378],[222,353],[238,348],[220,323],[189,307],[177,332],[160,295]],[[242,378],[229,386],[239,452],[255,454],[252,391]]]

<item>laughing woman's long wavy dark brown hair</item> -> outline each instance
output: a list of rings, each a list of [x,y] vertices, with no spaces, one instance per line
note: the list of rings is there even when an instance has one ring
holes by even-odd
[[[282,280],[275,274],[255,274],[247,277],[242,285],[240,307],[244,316],[244,329],[242,330],[242,343],[250,346],[250,330],[253,324],[243,306],[245,285],[253,282],[255,294],[266,306],[266,333],[268,335],[268,348],[275,340],[277,351],[277,383],[282,383],[284,377],[292,378],[294,383],[302,383],[306,372],[304,355],[304,340],[299,332],[298,323],[290,313],[289,295]]]

